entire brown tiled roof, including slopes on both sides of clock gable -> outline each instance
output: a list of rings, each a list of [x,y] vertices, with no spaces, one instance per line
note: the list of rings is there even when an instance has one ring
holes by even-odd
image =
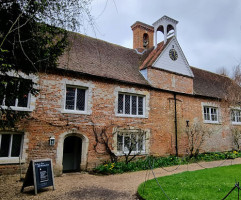
[[[139,70],[152,66],[171,39],[172,37],[165,45],[161,42],[156,49],[152,47],[144,54],[138,54],[133,49],[70,33],[70,45],[59,60],[59,68],[150,86]],[[194,67],[191,69],[194,74],[194,95],[225,98],[230,89],[227,86],[233,87],[232,80],[228,77]]]

